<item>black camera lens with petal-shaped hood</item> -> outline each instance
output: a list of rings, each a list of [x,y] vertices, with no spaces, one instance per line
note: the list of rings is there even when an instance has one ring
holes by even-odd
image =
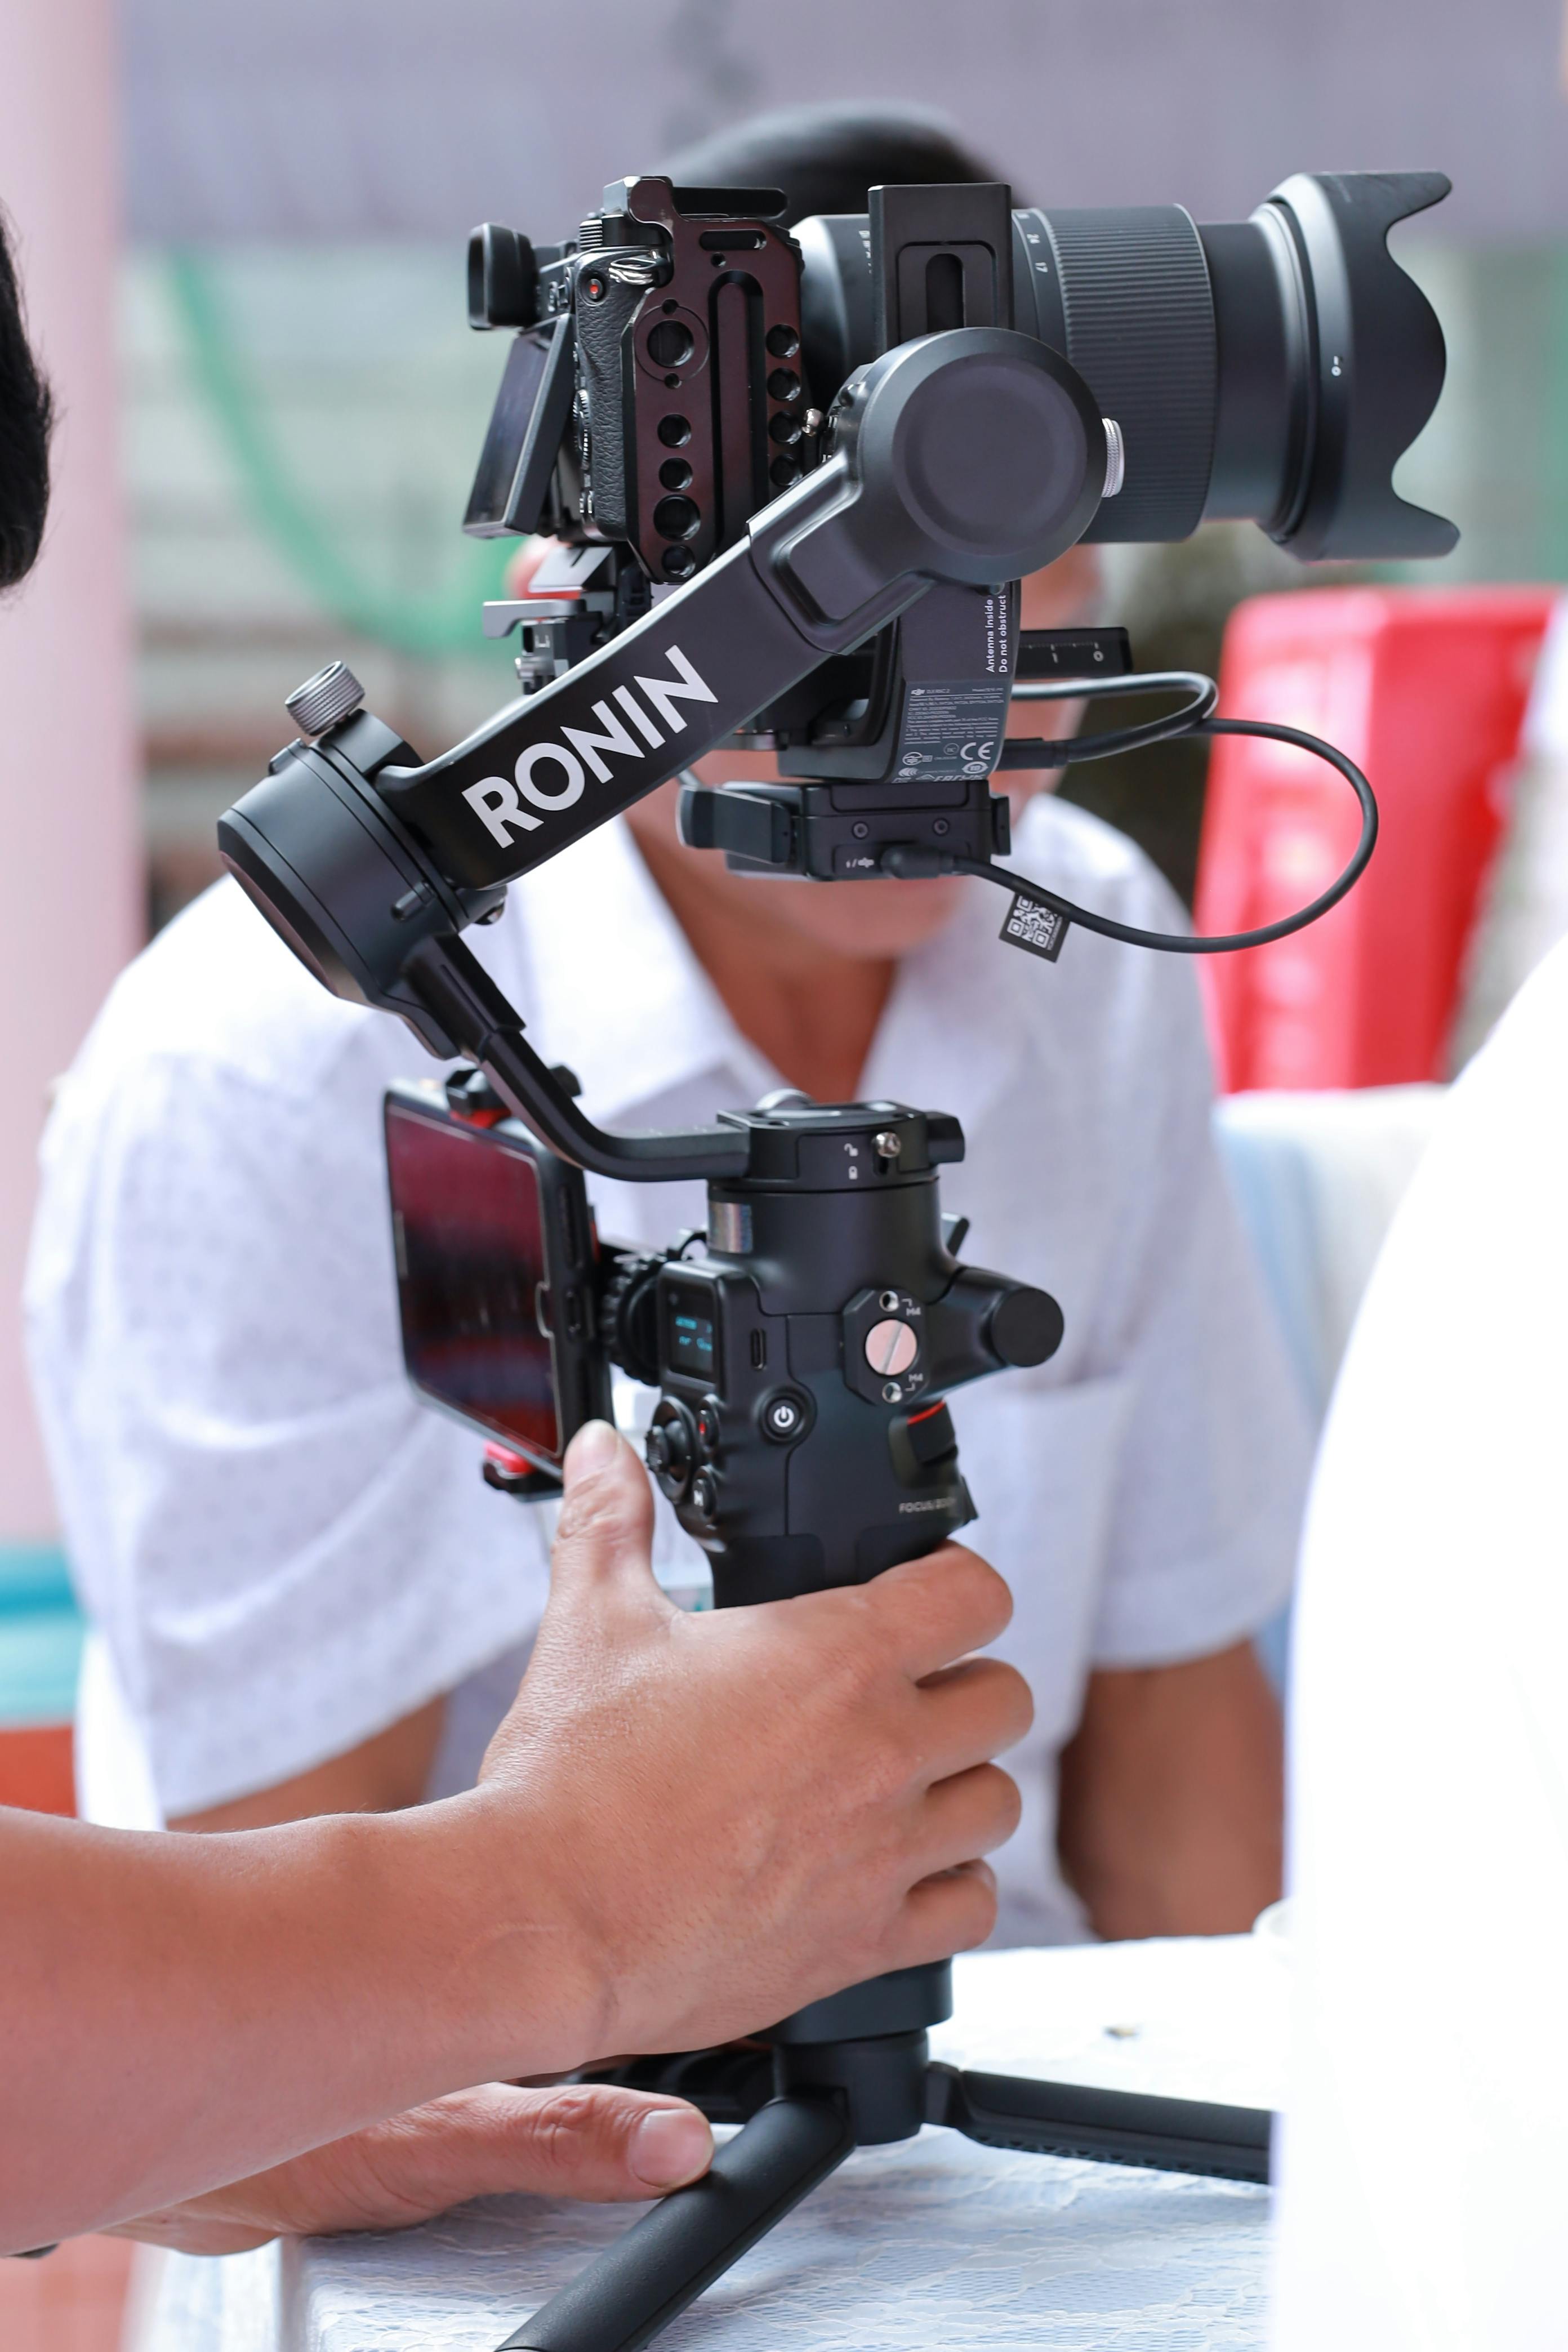
[[[1298,172],[1248,221],[1016,212],[1013,325],[1072,362],[1126,447],[1084,536],[1187,539],[1232,515],[1305,560],[1446,555],[1455,527],[1392,482],[1443,388],[1443,334],[1387,249],[1443,195],[1441,172]],[[795,228],[811,383],[875,355],[865,235],[853,216]]]

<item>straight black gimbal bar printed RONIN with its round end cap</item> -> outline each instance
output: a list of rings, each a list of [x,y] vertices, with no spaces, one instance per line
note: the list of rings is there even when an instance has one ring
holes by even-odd
[[[835,454],[748,539],[555,684],[376,790],[468,889],[510,882],[733,734],[933,581],[992,586],[1093,520],[1105,426],[1030,336],[886,353],[835,409]]]

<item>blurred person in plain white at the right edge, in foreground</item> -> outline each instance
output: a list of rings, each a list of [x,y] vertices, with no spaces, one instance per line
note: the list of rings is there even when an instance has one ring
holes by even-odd
[[[1295,1611],[1276,2352],[1547,2352],[1568,2159],[1568,946],[1356,1322]]]

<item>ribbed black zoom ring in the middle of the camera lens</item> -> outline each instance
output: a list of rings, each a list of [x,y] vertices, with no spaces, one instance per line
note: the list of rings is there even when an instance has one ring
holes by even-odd
[[[1185,539],[1208,496],[1218,343],[1208,263],[1180,205],[1048,212],[1067,358],[1126,440],[1126,485],[1086,539]]]

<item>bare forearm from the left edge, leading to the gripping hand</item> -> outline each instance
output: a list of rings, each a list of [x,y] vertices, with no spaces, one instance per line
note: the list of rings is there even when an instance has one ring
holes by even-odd
[[[571,1922],[484,1795],[247,1837],[0,1813],[0,2246],[588,2056]],[[508,1846],[510,1884],[527,1835]]]

